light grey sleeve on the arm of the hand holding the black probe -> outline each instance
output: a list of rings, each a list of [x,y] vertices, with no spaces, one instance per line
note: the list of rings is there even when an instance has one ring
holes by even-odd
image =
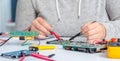
[[[120,37],[120,0],[106,0],[106,11],[109,21],[102,24],[106,28],[106,39]]]

